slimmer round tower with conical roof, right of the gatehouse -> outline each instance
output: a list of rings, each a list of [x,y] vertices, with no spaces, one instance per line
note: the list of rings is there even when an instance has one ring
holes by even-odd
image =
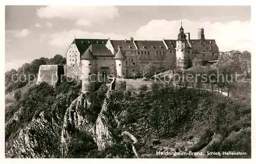
[[[115,56],[117,78],[125,78],[125,56],[120,48]]]

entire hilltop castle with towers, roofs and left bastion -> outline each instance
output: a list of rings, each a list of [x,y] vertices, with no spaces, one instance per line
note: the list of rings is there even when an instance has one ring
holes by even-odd
[[[204,29],[198,29],[198,39],[190,39],[180,27],[176,40],[111,40],[74,39],[66,53],[67,65],[41,65],[37,84],[46,81],[54,85],[60,75],[82,80],[82,91],[93,91],[95,81],[104,81],[107,76],[117,78],[133,77],[135,72],[145,71],[152,63],[156,71],[170,69],[176,60],[184,70],[197,57],[203,62],[218,59],[219,48],[214,39],[205,39]],[[56,78],[54,80],[53,76]],[[97,79],[95,76],[101,75]],[[89,78],[90,77],[90,78]]]

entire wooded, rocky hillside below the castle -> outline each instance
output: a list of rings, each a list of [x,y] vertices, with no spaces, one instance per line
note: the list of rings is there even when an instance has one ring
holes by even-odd
[[[237,58],[221,57],[227,61],[217,64],[218,71],[243,72],[244,67],[233,65]],[[201,68],[195,64],[190,71],[204,72]],[[206,70],[214,72],[210,67]],[[251,157],[250,81],[179,85],[158,81],[125,91],[103,84],[86,94],[81,93],[81,81],[70,81],[57,82],[55,87],[42,82],[21,92],[22,85],[8,82],[15,101],[6,101],[6,157],[202,157],[162,156],[157,151],[203,152],[204,158]],[[228,91],[229,97],[203,86]],[[246,154],[206,155],[207,151]]]

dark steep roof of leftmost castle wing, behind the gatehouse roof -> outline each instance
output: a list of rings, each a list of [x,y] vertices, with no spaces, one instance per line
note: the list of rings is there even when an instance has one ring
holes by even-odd
[[[108,39],[74,39],[73,43],[76,43],[78,51],[83,54],[91,44],[106,44]]]

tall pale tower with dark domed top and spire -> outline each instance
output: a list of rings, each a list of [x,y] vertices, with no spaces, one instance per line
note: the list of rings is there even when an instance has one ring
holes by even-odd
[[[187,50],[186,50],[186,34],[184,34],[184,29],[180,28],[180,33],[178,34],[178,39],[176,40],[176,62],[177,66],[184,70],[188,66]]]

